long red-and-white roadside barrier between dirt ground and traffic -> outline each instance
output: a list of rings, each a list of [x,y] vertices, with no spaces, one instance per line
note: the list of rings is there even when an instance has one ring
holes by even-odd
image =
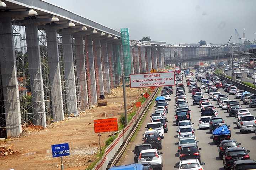
[[[106,148],[105,153],[94,166],[93,170],[106,170],[110,168],[113,160],[116,160],[115,158],[117,157],[117,155],[126,147],[126,143],[135,132],[134,129],[137,129],[137,126],[141,121],[143,115],[148,110],[151,102],[154,100],[158,89],[159,87],[154,89],[151,95],[147,98],[147,100],[142,104],[136,114],[132,117],[132,120],[128,123],[128,125],[121,132],[119,132],[117,138],[111,143],[110,146]]]

